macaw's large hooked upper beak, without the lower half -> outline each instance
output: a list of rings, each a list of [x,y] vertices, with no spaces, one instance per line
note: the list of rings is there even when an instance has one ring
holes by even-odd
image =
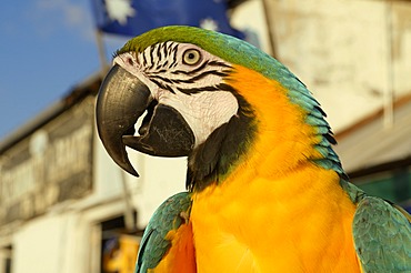
[[[106,75],[96,105],[100,139],[117,164],[139,176],[126,152],[123,135],[134,134],[134,124],[152,101],[149,88],[116,64]]]

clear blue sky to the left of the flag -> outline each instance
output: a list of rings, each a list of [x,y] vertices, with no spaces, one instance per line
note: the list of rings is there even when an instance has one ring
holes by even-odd
[[[100,69],[92,0],[0,4],[0,141]],[[106,55],[129,38],[104,36]]]

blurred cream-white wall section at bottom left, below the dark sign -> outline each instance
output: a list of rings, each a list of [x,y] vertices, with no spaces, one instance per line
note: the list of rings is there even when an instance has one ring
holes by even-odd
[[[87,242],[76,214],[49,214],[27,222],[13,234],[13,273],[80,271]]]

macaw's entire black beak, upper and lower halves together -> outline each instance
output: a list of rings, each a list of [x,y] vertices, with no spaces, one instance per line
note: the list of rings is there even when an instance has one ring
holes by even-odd
[[[147,111],[139,134],[134,125]],[[97,98],[96,121],[99,136],[113,161],[139,176],[126,145],[157,156],[184,156],[192,150],[194,134],[173,108],[158,103],[149,88],[120,65],[111,68]]]

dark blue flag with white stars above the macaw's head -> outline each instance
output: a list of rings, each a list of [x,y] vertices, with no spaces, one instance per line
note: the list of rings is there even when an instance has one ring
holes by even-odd
[[[93,0],[103,32],[138,36],[150,29],[182,24],[244,38],[230,26],[227,0]]]

